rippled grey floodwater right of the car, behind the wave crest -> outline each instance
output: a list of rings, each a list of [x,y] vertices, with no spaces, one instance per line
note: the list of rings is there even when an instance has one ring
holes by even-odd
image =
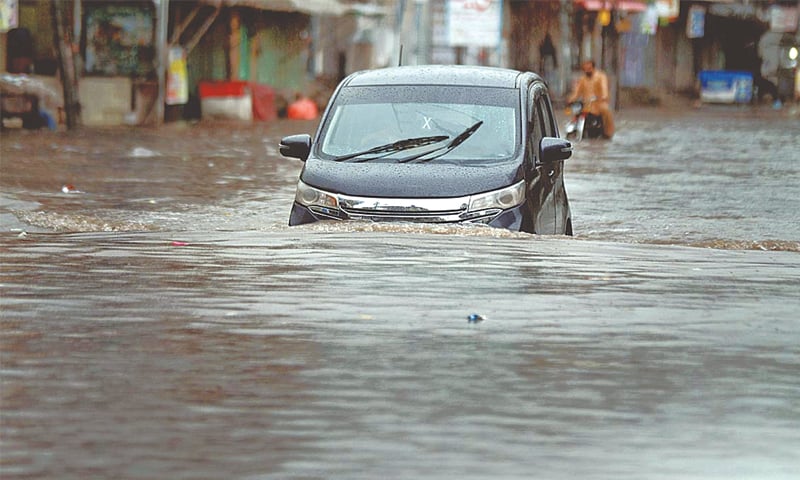
[[[582,143],[568,162],[576,232],[800,251],[800,154],[784,122],[702,112],[623,121],[613,142]]]

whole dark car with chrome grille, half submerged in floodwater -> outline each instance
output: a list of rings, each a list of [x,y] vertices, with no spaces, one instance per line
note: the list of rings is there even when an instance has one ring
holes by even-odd
[[[358,72],[310,135],[281,140],[305,166],[290,225],[320,220],[481,223],[572,235],[547,86],[468,66]]]

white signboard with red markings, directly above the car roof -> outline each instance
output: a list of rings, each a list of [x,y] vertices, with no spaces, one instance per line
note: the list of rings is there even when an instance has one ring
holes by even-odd
[[[500,45],[502,0],[448,0],[448,41],[451,47]]]

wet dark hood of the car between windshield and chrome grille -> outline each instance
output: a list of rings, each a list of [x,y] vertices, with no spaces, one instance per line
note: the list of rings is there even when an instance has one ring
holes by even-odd
[[[363,197],[461,197],[507,187],[524,177],[518,161],[464,166],[447,163],[347,163],[309,159],[301,180],[333,193]]]

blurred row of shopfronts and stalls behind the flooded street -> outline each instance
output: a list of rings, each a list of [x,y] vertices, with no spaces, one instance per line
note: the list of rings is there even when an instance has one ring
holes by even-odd
[[[297,96],[324,108],[346,75],[400,63],[532,70],[558,100],[586,59],[608,73],[617,109],[686,97],[780,108],[800,95],[798,5],[0,0],[3,114],[51,128],[270,121]],[[39,117],[25,118],[33,110]]]

